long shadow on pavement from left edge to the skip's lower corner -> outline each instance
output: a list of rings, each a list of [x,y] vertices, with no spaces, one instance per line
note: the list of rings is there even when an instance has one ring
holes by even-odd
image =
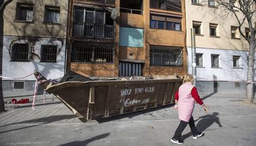
[[[1,127],[5,127],[5,126],[10,126],[10,125],[15,125],[15,124],[28,124],[28,123],[35,123],[33,125],[30,126],[24,126],[22,128],[17,128],[17,129],[11,129],[11,130],[7,130],[7,131],[0,131],[1,133],[5,133],[5,132],[11,132],[11,131],[17,131],[20,129],[25,129],[25,128],[32,128],[32,127],[36,127],[36,126],[41,126],[43,124],[48,124],[48,123],[53,123],[54,121],[60,121],[60,120],[69,120],[71,118],[75,118],[74,115],[54,115],[54,116],[46,116],[43,118],[36,118],[36,119],[32,119],[32,120],[27,120],[27,121],[21,121],[18,123],[12,123],[12,124],[5,124],[0,126]],[[40,124],[36,124],[37,122],[39,122]]]

